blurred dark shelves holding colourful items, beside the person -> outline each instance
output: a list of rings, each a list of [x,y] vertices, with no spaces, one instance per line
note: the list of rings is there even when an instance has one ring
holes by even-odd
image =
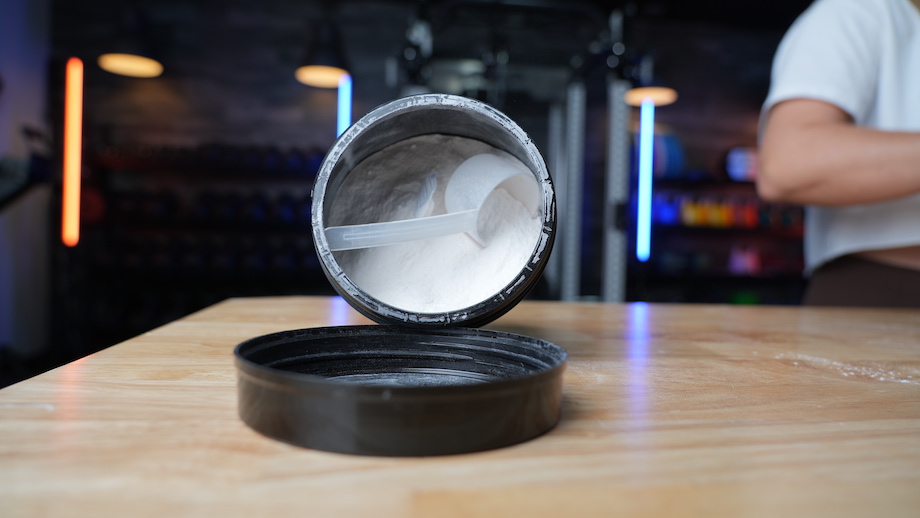
[[[629,296],[656,302],[795,304],[803,211],[766,203],[751,182],[658,179],[652,255],[631,259]]]

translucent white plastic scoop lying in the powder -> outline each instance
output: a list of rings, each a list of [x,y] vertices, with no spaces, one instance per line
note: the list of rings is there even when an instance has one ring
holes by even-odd
[[[429,176],[422,186],[419,207],[428,205],[434,194],[434,176]],[[502,186],[509,194],[534,214],[537,212],[540,188],[533,173],[498,155],[472,156],[458,167],[444,190],[445,214],[422,218],[328,227],[326,241],[333,252],[376,246],[408,243],[420,239],[447,236],[466,232],[481,246],[488,243],[477,230],[480,209],[486,198]],[[422,199],[424,198],[424,199]]]

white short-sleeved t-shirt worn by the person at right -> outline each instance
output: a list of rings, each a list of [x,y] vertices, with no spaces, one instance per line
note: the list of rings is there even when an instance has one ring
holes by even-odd
[[[861,126],[920,131],[920,11],[910,0],[816,0],[780,43],[762,114],[796,98],[834,104]],[[918,244],[920,194],[807,209],[808,271],[853,252]]]

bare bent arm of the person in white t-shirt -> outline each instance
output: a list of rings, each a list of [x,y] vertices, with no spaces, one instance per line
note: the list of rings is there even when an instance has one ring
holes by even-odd
[[[920,132],[859,127],[823,101],[780,102],[761,139],[757,191],[769,201],[828,206],[920,192]]]

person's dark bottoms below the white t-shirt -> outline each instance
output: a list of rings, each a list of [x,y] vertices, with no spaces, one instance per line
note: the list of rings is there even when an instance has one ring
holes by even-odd
[[[920,308],[920,270],[839,257],[812,273],[802,304]]]

